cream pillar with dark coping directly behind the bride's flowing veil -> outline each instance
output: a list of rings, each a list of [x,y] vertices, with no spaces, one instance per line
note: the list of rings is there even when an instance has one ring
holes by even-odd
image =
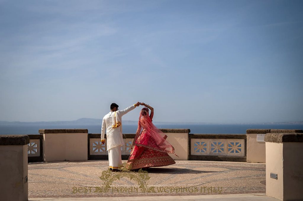
[[[175,154],[169,153],[174,160],[188,160],[188,133],[189,129],[160,129],[167,135],[166,140],[175,148]]]

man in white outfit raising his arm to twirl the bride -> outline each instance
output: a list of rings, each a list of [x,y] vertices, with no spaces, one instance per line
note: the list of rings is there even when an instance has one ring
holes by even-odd
[[[101,142],[105,143],[104,135],[106,130],[107,150],[109,168],[114,172],[122,166],[121,146],[124,145],[122,137],[122,116],[135,109],[141,103],[137,102],[124,110],[118,110],[118,105],[111,104],[111,111],[103,117],[101,129]]]

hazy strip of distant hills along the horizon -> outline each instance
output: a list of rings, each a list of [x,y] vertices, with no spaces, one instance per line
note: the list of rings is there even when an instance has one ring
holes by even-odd
[[[72,121],[36,121],[36,122],[22,122],[22,121],[0,121],[0,126],[39,126],[39,125],[101,125],[101,119],[81,118]],[[137,125],[138,121],[123,120],[124,125]],[[289,121],[289,122],[266,122],[266,123],[189,123],[189,122],[154,122],[154,124],[168,124],[168,125],[303,125],[303,121]]]

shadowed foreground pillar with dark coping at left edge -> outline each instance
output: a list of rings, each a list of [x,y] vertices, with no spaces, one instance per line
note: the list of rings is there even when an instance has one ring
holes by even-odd
[[[0,200],[28,200],[27,135],[0,135]]]

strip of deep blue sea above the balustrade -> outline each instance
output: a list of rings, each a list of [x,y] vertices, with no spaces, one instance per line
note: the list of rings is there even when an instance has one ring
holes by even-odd
[[[185,128],[190,133],[245,134],[247,129],[300,129],[303,124],[155,124],[158,128]],[[0,135],[39,134],[39,129],[88,129],[88,133],[101,133],[101,125],[14,125],[0,126]],[[123,125],[123,133],[136,133],[137,125]]]

